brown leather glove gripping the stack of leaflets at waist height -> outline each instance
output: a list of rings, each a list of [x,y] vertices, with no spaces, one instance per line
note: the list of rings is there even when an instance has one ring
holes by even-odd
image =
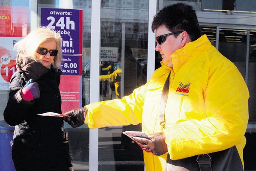
[[[146,148],[154,155],[161,156],[168,152],[164,133],[154,133],[148,136],[149,139],[141,137],[133,137],[133,139],[137,141],[141,147]]]

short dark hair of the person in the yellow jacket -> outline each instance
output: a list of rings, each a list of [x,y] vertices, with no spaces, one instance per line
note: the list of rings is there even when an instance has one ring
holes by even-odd
[[[191,41],[201,36],[196,11],[185,3],[176,3],[161,9],[153,18],[152,31],[155,32],[161,25],[165,25],[171,32],[187,31]]]

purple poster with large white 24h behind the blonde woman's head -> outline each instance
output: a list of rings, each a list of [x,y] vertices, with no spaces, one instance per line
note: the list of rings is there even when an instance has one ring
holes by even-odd
[[[63,55],[82,54],[83,10],[42,8],[41,26],[60,33]]]

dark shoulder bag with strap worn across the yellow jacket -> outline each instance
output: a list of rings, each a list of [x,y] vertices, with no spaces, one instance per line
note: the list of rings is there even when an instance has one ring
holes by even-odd
[[[170,73],[171,74],[171,73]],[[160,125],[165,128],[165,106],[169,92],[169,78],[164,83],[159,113]],[[243,171],[243,165],[235,146],[215,153],[200,154],[185,159],[172,160],[167,156],[166,171]]]

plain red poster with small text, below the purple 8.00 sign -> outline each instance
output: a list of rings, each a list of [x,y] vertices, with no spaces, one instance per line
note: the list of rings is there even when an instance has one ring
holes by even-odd
[[[82,76],[62,75],[60,79],[61,110],[63,113],[82,106]]]

